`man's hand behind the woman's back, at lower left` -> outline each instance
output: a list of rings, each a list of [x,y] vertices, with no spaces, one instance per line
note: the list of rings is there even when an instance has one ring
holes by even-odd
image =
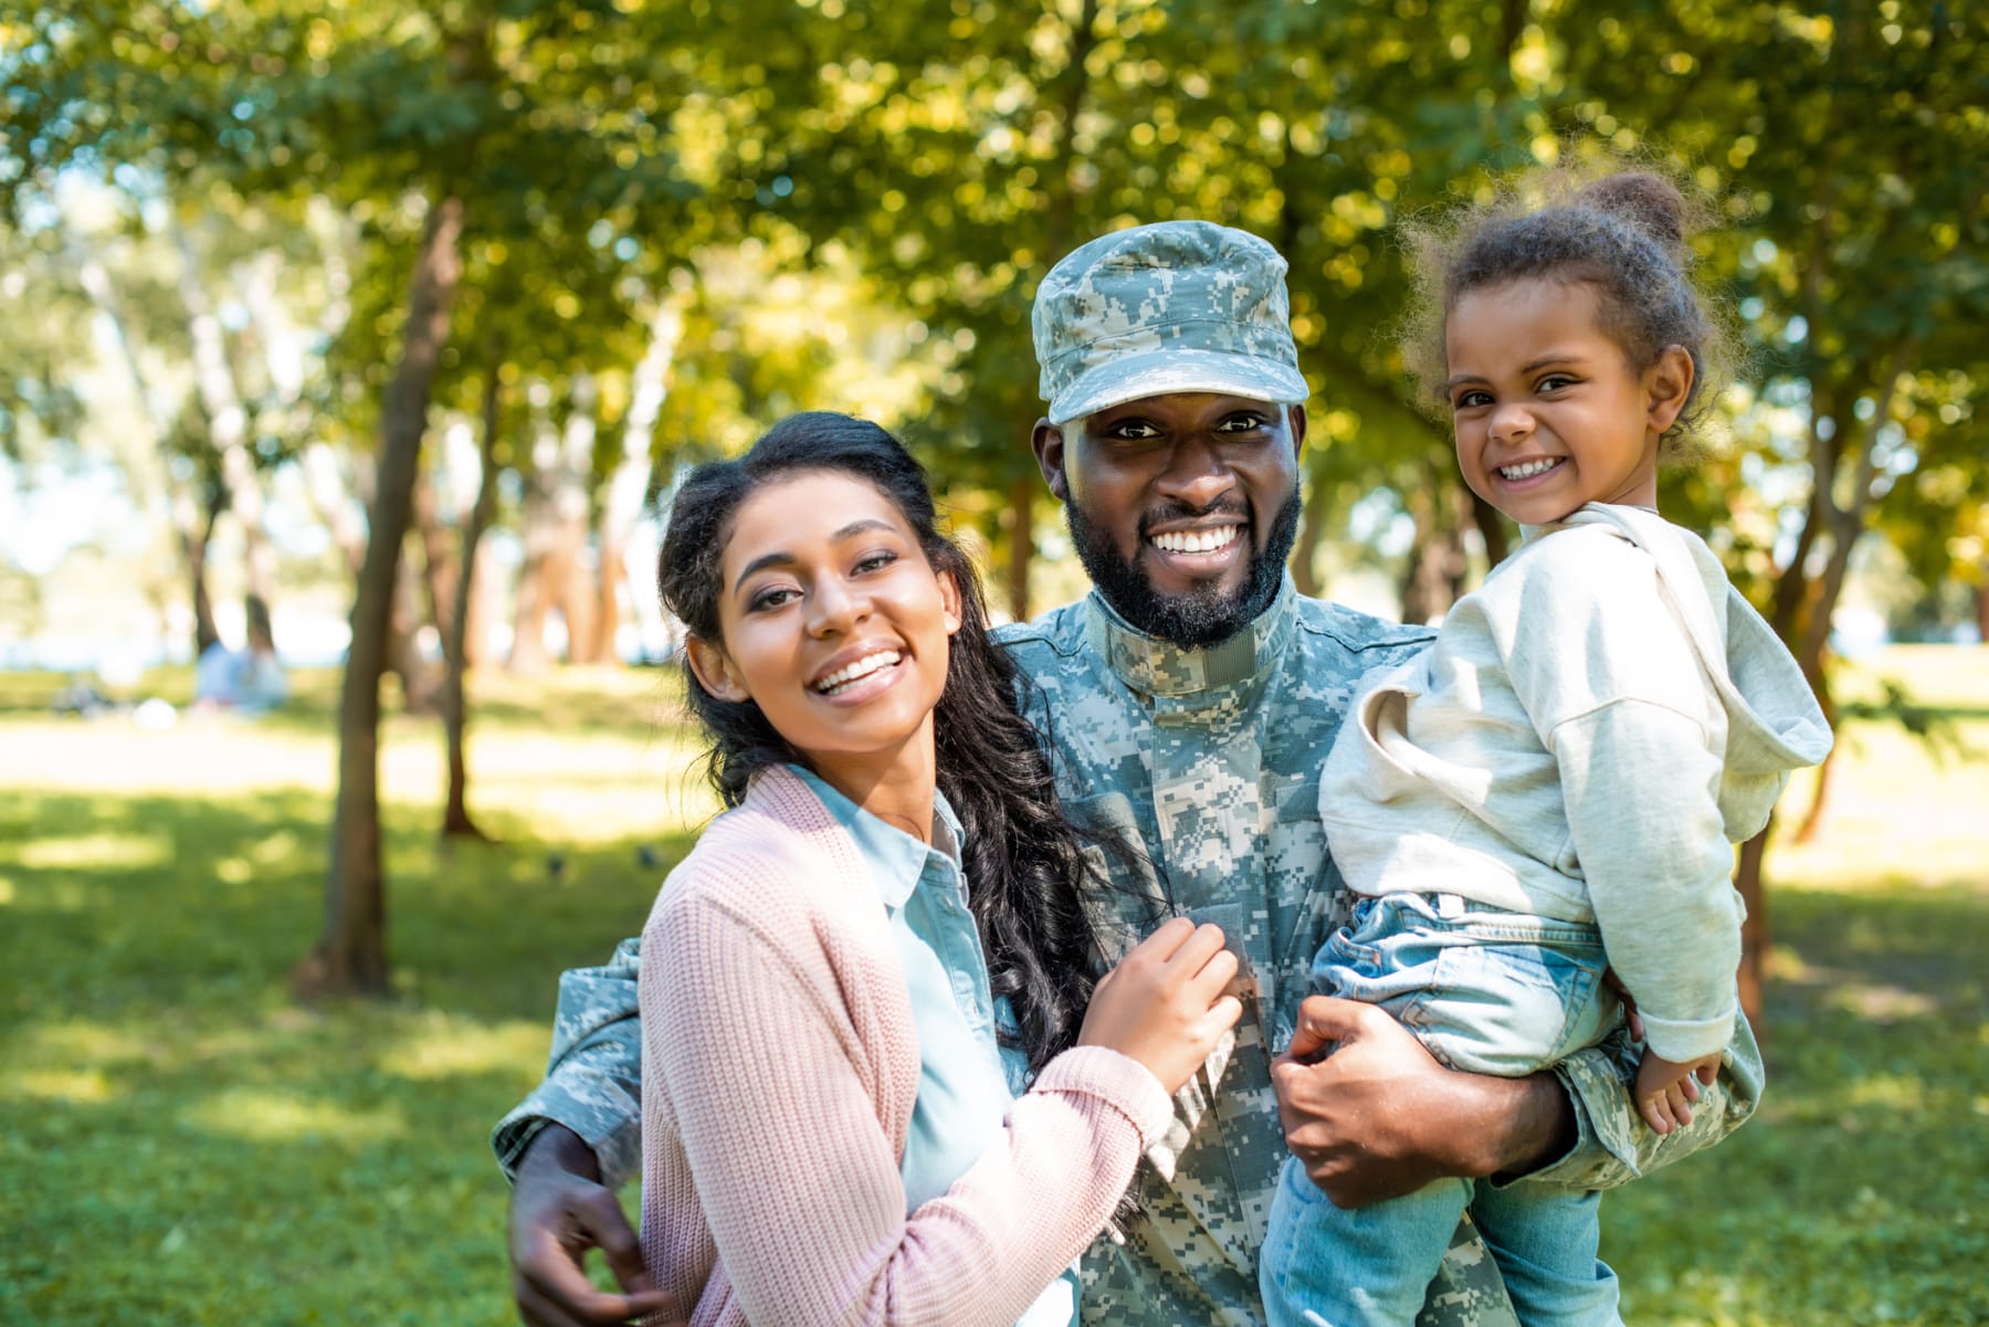
[[[589,1283],[583,1263],[599,1247],[623,1295]],[[525,1148],[511,1186],[511,1297],[527,1327],[609,1327],[672,1309],[650,1287],[642,1245],[601,1164],[581,1136],[547,1124]]]

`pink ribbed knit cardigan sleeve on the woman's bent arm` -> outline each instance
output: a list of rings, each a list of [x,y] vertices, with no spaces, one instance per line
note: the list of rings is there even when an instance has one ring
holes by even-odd
[[[644,1108],[646,1174],[680,1150],[694,1188],[692,1202],[682,1184],[644,1186],[652,1271],[716,1247],[714,1275],[754,1327],[1014,1323],[1104,1228],[1172,1118],[1168,1094],[1118,1052],[1070,1050],[907,1218],[873,1096],[883,1074],[843,1007],[849,973],[788,939],[700,899],[658,909],[644,937],[646,1090],[660,1094]]]

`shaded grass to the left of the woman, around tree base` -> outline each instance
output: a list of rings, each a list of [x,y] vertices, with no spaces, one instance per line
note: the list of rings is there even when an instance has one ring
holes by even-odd
[[[306,1011],[326,816],[0,804],[0,1321],[509,1321],[485,1134],[688,840],[390,834],[396,997]]]

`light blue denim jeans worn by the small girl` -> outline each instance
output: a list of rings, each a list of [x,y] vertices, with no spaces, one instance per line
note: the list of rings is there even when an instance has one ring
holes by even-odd
[[[1516,1078],[1611,1029],[1605,965],[1593,925],[1392,893],[1360,899],[1313,989],[1380,1005],[1450,1068]],[[1466,1208],[1526,1327],[1621,1321],[1595,1194],[1440,1180],[1343,1212],[1287,1158],[1257,1267],[1269,1325],[1408,1327]]]

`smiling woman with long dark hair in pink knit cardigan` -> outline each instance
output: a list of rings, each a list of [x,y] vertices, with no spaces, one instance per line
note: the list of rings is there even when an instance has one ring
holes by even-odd
[[[700,468],[658,579],[732,810],[642,935],[650,1275],[700,1327],[1070,1323],[1060,1273],[1241,1013],[1221,931],[1170,921],[1090,989],[1014,670],[877,426]]]

